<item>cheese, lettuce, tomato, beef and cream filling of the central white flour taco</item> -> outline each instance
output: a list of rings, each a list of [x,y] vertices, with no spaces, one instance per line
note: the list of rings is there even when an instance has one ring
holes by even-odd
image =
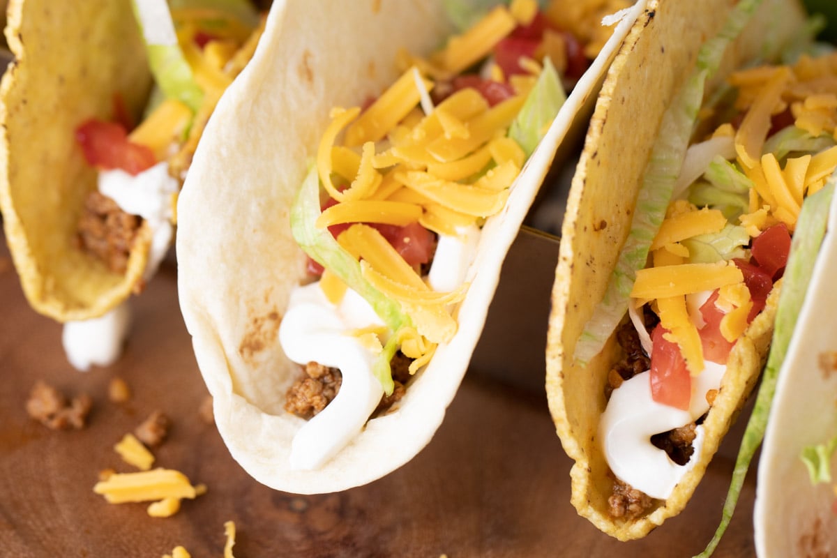
[[[597,54],[550,18],[558,4],[498,6],[426,59],[400,53],[401,77],[364,107],[331,111],[291,214],[315,279],[280,325],[302,368],[285,410],[308,419],[291,467],[320,467],[397,406],[456,333],[485,220]]]

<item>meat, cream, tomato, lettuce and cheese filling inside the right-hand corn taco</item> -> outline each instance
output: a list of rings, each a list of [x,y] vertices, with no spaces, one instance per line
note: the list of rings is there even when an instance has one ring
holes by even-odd
[[[837,168],[835,69],[835,54],[743,69],[701,108],[603,387],[614,518],[659,507],[701,455],[701,423],[737,381],[731,352],[782,278],[804,199]]]

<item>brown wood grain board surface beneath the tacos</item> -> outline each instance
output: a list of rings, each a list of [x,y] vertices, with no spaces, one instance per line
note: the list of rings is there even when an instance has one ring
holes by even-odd
[[[238,528],[234,554],[256,556],[690,556],[721,517],[739,423],[686,511],[644,540],[619,543],[569,504],[571,462],[537,390],[470,371],[435,438],[403,468],[339,494],[298,496],[256,483],[230,458],[198,407],[207,397],[166,264],[131,301],[134,324],[115,365],[83,373],[64,358],[60,325],[28,308],[8,250],[0,249],[0,555],[159,557],[184,545],[223,555],[223,523]],[[521,371],[542,376],[542,370]],[[131,400],[107,397],[113,376]],[[83,430],[51,431],[24,402],[44,380],[94,407]],[[537,382],[535,382],[537,384]],[[134,470],[113,445],[150,412],[172,419],[156,465],[177,468],[207,494],[171,518],[146,504],[107,504],[100,470]],[[374,458],[374,456],[370,456]],[[754,470],[716,556],[750,556]]]

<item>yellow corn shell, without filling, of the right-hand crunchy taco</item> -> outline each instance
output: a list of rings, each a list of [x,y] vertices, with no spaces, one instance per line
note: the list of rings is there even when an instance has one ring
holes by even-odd
[[[704,422],[706,438],[696,466],[670,498],[648,514],[633,520],[608,514],[613,477],[598,440],[598,424],[606,407],[608,371],[618,361],[620,350],[613,335],[587,366],[573,361],[573,353],[584,325],[603,297],[629,233],[631,216],[639,210],[635,200],[662,116],[694,67],[701,44],[718,33],[734,4],[729,0],[652,0],[648,4],[608,71],[562,223],[547,334],[547,398],[562,446],[575,460],[571,471],[573,505],[598,529],[620,540],[647,535],[686,506],[757,381],[771,337],[777,289],[729,357],[720,393]],[[773,13],[782,13],[781,21],[775,22]],[[769,50],[787,42],[803,18],[796,3],[764,2],[727,49],[717,79],[743,61],[775,55]],[[766,37],[771,40],[769,45]]]

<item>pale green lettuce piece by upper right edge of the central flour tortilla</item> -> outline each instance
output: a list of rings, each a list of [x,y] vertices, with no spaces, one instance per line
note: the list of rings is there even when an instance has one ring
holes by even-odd
[[[526,158],[535,151],[566,100],[567,94],[561,84],[561,77],[550,59],[544,59],[541,75],[509,126],[509,137],[520,144]]]

